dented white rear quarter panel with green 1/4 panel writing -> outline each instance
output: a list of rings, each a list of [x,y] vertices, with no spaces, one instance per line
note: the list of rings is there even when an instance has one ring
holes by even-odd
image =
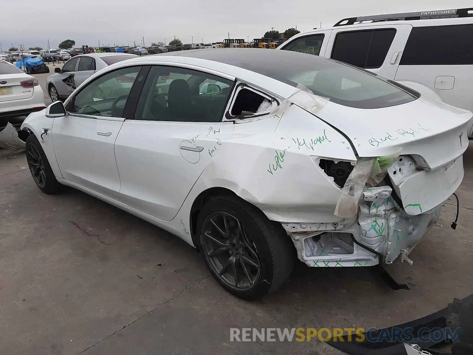
[[[318,160],[356,157],[342,134],[304,109],[292,105],[262,120],[236,121],[219,150],[188,195],[189,209],[202,191],[226,187],[274,221],[341,220],[333,214],[341,189]]]

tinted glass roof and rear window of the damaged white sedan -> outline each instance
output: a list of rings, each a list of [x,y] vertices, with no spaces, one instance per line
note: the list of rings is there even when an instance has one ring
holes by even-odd
[[[356,108],[381,108],[415,100],[415,92],[382,76],[316,55],[291,51],[232,49],[186,53],[244,68],[293,87],[303,85],[331,102]],[[271,63],[271,65],[268,65]],[[412,93],[413,92],[413,93]]]

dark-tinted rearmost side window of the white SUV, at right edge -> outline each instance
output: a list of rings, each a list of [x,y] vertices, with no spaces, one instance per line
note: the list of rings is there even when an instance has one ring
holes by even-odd
[[[399,65],[473,64],[473,24],[414,27]]]

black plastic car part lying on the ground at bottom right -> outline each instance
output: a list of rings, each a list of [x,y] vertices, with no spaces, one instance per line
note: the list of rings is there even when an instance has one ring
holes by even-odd
[[[462,302],[472,303],[473,294],[466,297]],[[446,328],[454,333],[455,328],[458,327],[458,325],[455,325],[455,321],[449,320],[455,319],[455,314],[452,313],[452,304],[455,303],[450,303],[447,308],[420,319],[390,328],[362,333],[365,339],[363,341],[357,341],[360,338],[355,335],[350,336],[351,341],[349,341],[349,336],[345,335],[343,337],[332,337],[327,341],[327,344],[352,355],[405,355],[404,342],[418,344],[422,348],[429,348],[448,340],[438,339],[438,333],[437,335],[433,334],[439,328],[442,329],[445,335],[447,333]],[[426,331],[427,328],[430,332]],[[402,329],[402,332],[399,329]],[[422,330],[421,333],[420,330]],[[460,329],[460,338],[466,338],[466,335],[462,335],[462,332],[463,328]],[[380,339],[380,341],[370,341],[368,339]],[[429,340],[422,341],[422,339]]]

